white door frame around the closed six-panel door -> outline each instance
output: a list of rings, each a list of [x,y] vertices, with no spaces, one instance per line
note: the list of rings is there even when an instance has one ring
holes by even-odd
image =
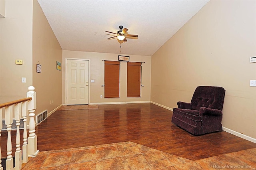
[[[72,60],[86,60],[88,61],[88,85],[89,85],[89,89],[88,89],[88,105],[90,105],[90,82],[91,82],[91,79],[90,79],[90,65],[91,65],[91,59],[84,59],[84,58],[65,58],[65,105],[68,104],[67,102],[67,94],[68,94],[68,85],[67,85],[67,82],[68,82],[68,79],[67,79],[67,75],[68,75],[68,70],[67,70],[67,65],[68,65],[68,62],[67,60],[68,59],[72,59]]]

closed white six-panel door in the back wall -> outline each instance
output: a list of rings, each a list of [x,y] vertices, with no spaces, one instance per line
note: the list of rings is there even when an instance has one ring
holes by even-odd
[[[67,59],[67,105],[84,105],[89,100],[89,61]]]

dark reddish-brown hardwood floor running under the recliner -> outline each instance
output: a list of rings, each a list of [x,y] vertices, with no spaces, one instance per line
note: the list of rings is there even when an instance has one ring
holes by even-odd
[[[38,150],[131,141],[190,160],[199,160],[256,148],[255,143],[224,131],[193,136],[174,125],[171,118],[172,111],[151,103],[56,111],[36,127]],[[1,148],[6,147],[2,142],[6,141],[5,133],[2,132]]]

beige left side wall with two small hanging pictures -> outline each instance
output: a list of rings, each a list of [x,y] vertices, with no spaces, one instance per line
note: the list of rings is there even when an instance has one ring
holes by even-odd
[[[56,69],[56,61],[62,62],[62,48],[58,43],[44,13],[33,1],[33,86],[37,93],[36,115],[48,109],[48,113],[62,105],[62,71]],[[36,64],[42,72],[36,73]],[[50,105],[50,100],[53,104]]]

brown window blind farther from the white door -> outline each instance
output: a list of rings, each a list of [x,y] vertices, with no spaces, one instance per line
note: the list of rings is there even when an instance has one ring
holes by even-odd
[[[140,97],[141,63],[127,62],[127,97]]]

